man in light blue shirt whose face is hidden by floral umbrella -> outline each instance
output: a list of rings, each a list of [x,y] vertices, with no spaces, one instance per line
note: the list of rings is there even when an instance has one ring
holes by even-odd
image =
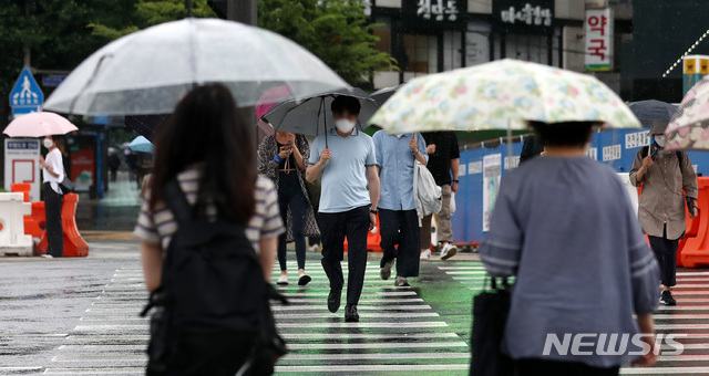
[[[413,201],[413,174],[417,160],[425,166],[429,159],[425,142],[420,134],[389,135],[386,130],[377,132],[373,140],[381,181],[379,221],[384,255],[380,275],[388,280],[397,260],[394,284],[408,286],[407,278],[419,275],[421,232]]]

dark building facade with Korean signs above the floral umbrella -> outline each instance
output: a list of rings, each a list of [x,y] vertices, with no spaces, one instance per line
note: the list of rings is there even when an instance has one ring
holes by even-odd
[[[377,49],[400,67],[374,75],[374,88],[510,58],[596,71],[620,92],[620,51],[633,32],[631,0],[369,0],[366,12],[380,24]],[[600,28],[603,39],[587,44],[587,29]],[[589,64],[600,55],[607,64]]]

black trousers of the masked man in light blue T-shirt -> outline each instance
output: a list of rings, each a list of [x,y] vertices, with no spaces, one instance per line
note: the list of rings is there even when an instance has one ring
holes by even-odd
[[[347,304],[357,305],[362,294],[367,270],[367,233],[369,232],[369,207],[345,212],[321,212],[318,221],[322,234],[322,269],[330,280],[330,289],[345,285],[342,259],[347,237]]]

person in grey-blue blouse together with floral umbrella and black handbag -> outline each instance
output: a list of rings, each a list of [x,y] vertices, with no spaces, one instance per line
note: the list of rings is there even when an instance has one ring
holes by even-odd
[[[501,353],[522,376],[617,375],[621,364],[656,362],[657,260],[621,180],[586,157],[595,126],[641,127],[609,87],[593,76],[502,60],[413,79],[371,123],[392,134],[507,130],[508,139],[531,126],[547,149],[505,175],[485,218],[485,269],[515,281],[508,295],[476,296],[496,295],[501,304],[475,303],[474,322],[495,320],[473,327],[473,370],[501,364]],[[605,335],[596,342],[588,333]],[[554,345],[569,336],[592,344],[590,354]],[[603,352],[609,336],[634,343]],[[502,346],[491,347],[495,341]]]

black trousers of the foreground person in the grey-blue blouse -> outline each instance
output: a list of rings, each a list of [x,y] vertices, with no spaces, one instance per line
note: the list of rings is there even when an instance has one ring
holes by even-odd
[[[616,376],[619,367],[597,368],[584,363],[544,359],[520,359],[515,364],[515,376]]]

